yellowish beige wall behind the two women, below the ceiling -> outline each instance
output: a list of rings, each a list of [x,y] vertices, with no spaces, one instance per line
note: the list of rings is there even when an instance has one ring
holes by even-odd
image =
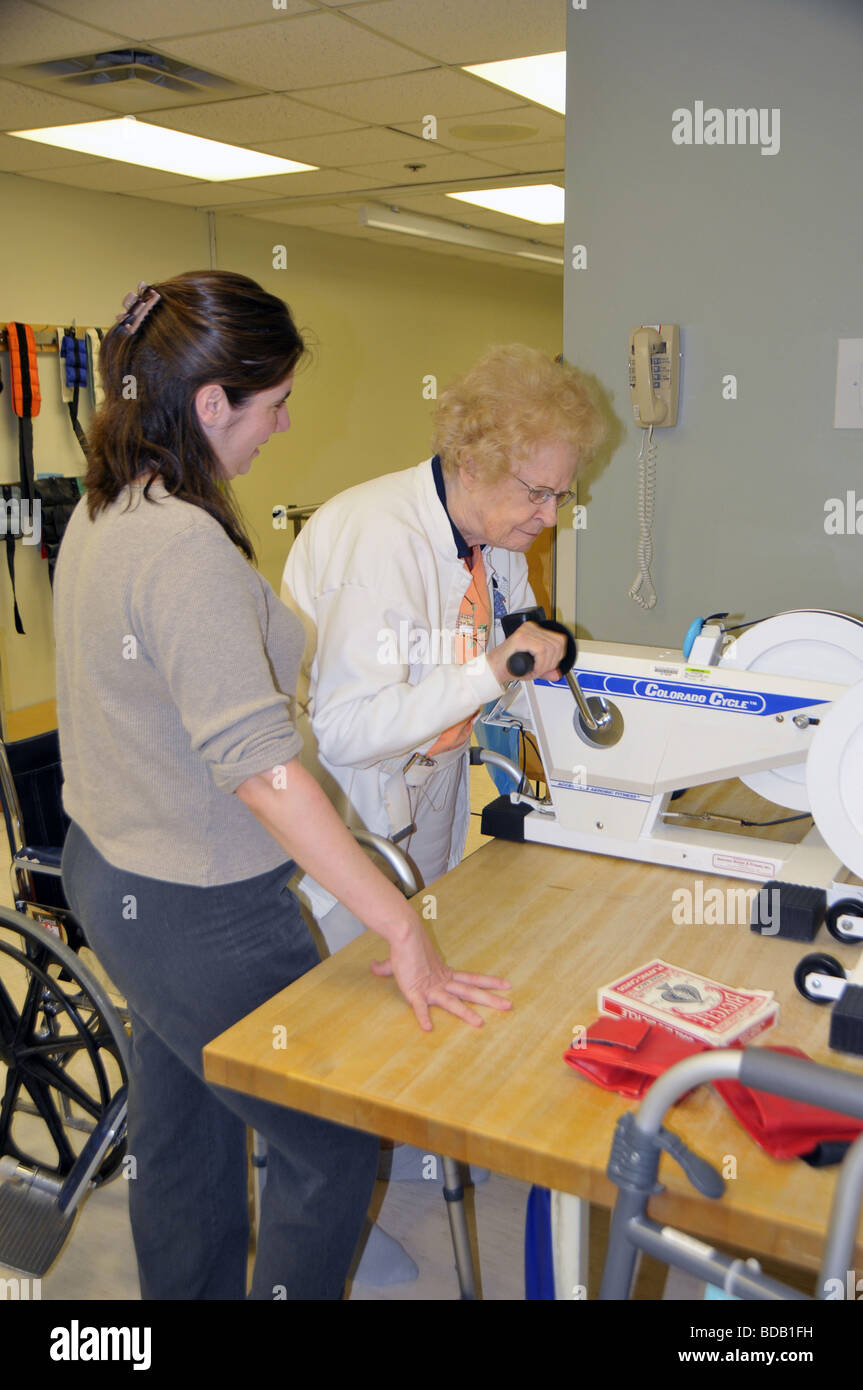
[[[14,175],[0,175],[0,206],[1,322],[107,325],[139,279],[208,264],[207,218],[193,210]],[[220,214],[215,234],[218,267],[252,275],[286,299],[317,343],[314,361],[297,374],[290,432],[275,436],[238,482],[260,569],[277,589],[290,532],[274,528],[272,509],[321,502],[427,457],[425,375],[443,385],[493,342],[561,346],[561,285],[549,275],[235,215]],[[288,270],[274,270],[279,245]],[[0,370],[7,386],[6,354]],[[33,430],[36,467],[79,473],[78,445],[58,403],[57,359],[40,356],[39,371],[44,406]],[[3,480],[17,477],[15,441],[4,393]],[[15,552],[26,637],[14,630],[6,564],[0,577],[0,662],[13,710],[54,694],[47,567],[33,546]]]

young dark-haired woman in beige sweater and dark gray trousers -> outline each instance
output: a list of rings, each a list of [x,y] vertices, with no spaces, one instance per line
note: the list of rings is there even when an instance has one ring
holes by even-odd
[[[129,1184],[145,1298],[242,1298],[246,1126],[268,1144],[254,1298],[339,1298],[378,1140],[208,1086],[202,1048],[318,962],[295,863],[385,938],[424,1029],[509,1008],[452,972],[297,753],[299,621],[249,563],[229,481],[289,427],[286,306],[197,271],[126,296],[106,336],[88,492],[54,584],[71,817],[63,881],[132,1022]]]

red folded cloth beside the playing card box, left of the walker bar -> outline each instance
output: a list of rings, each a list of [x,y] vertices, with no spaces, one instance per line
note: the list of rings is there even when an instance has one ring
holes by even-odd
[[[584,1044],[567,1048],[563,1059],[605,1091],[639,1099],[675,1062],[706,1051],[705,1042],[678,1038],[653,1023],[603,1015],[591,1023]]]

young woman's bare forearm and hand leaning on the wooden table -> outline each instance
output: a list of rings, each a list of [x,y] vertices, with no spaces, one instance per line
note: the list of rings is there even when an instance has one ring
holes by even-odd
[[[421,1029],[431,1030],[431,1005],[474,1027],[482,1019],[470,1004],[511,1008],[509,999],[491,992],[509,990],[507,980],[452,970],[441,959],[414,909],[360,849],[329,798],[296,758],[270,773],[249,777],[236,795],[300,869],[384,937],[389,958],[375,960],[372,970],[395,977]]]

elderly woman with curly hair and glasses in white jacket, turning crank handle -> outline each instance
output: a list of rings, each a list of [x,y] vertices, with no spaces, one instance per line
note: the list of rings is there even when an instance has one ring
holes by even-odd
[[[434,457],[332,498],[288,556],[315,774],[350,824],[414,827],[399,844],[425,883],[464,853],[471,728],[509,657],[529,651],[531,680],[557,674],[560,635],[527,623],[504,639],[500,619],[534,603],[524,552],[603,435],[582,373],[493,348],[442,392]],[[303,887],[331,951],[361,931]]]

